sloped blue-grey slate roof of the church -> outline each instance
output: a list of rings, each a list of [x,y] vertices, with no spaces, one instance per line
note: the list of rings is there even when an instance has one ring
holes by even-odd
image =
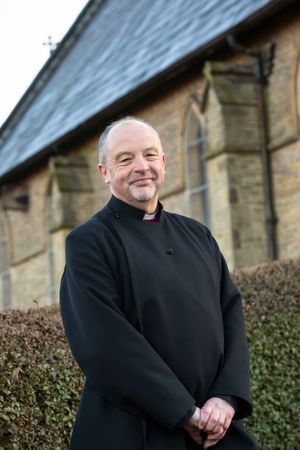
[[[92,0],[0,130],[0,179],[285,0]]]

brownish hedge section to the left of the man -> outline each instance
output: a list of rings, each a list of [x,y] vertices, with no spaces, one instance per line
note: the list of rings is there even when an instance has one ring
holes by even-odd
[[[67,449],[82,377],[58,307],[0,313],[0,449]]]

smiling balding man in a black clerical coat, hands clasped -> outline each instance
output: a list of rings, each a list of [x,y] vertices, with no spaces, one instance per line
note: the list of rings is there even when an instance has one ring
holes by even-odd
[[[158,133],[100,138],[112,197],[66,241],[61,312],[86,377],[72,450],[253,450],[241,297],[209,230],[158,201]],[[234,419],[234,420],[233,420]]]

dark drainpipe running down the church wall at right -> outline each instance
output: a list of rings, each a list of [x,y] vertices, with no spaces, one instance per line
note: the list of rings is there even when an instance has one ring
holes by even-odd
[[[275,259],[277,259],[277,240],[276,240],[277,217],[275,215],[274,209],[271,157],[270,152],[268,150],[268,142],[269,142],[268,116],[264,91],[265,86],[268,82],[268,76],[270,75],[272,69],[275,44],[272,44],[270,46],[269,55],[266,61],[266,58],[263,57],[262,49],[254,52],[246,47],[243,47],[236,41],[233,35],[227,37],[227,42],[232,50],[234,50],[235,52],[244,53],[253,60],[253,70],[256,82],[258,84],[258,107],[261,123],[261,156],[262,156],[263,183],[265,194],[265,217],[267,229],[268,260],[274,261]],[[268,64],[266,64],[266,62]]]

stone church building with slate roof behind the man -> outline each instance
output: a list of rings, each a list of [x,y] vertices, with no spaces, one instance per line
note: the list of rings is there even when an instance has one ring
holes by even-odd
[[[126,115],[161,134],[165,209],[231,270],[300,256],[299,2],[91,0],[0,130],[0,308],[58,301],[65,237],[109,198],[99,135]]]

